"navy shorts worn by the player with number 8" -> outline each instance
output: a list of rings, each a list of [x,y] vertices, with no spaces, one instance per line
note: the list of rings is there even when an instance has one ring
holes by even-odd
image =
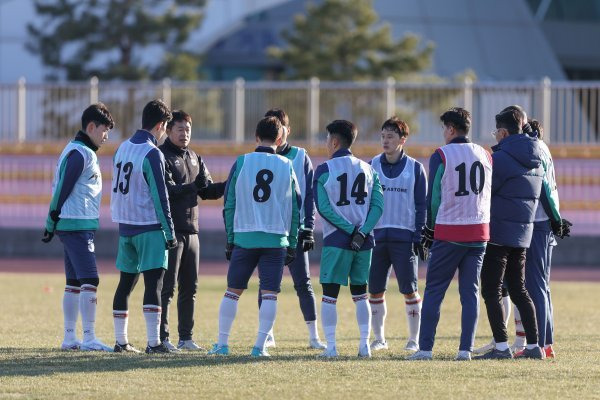
[[[247,289],[254,268],[258,266],[260,288],[279,293],[285,255],[285,248],[244,249],[235,246],[227,271],[227,287]]]

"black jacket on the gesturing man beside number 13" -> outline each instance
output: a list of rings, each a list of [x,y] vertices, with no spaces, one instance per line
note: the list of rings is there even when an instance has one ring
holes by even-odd
[[[159,149],[166,161],[165,183],[175,232],[198,233],[198,196],[202,199],[222,197],[225,182],[213,183],[204,161],[192,149],[179,148],[168,138]],[[199,185],[194,183],[196,178]]]

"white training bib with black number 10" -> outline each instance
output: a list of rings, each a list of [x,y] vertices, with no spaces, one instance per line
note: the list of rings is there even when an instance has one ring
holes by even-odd
[[[440,147],[445,159],[441,204],[436,224],[472,225],[490,222],[492,162],[475,143]]]

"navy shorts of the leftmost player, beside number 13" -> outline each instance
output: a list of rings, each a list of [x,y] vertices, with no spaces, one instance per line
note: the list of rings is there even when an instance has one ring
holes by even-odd
[[[56,231],[65,249],[67,279],[98,278],[94,231]]]

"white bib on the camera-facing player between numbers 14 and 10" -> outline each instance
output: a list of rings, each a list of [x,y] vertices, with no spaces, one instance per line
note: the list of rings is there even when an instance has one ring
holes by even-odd
[[[404,170],[396,178],[388,178],[381,169],[381,157],[373,158],[371,166],[379,175],[383,188],[384,207],[375,229],[396,228],[415,231],[415,159],[408,157]]]

